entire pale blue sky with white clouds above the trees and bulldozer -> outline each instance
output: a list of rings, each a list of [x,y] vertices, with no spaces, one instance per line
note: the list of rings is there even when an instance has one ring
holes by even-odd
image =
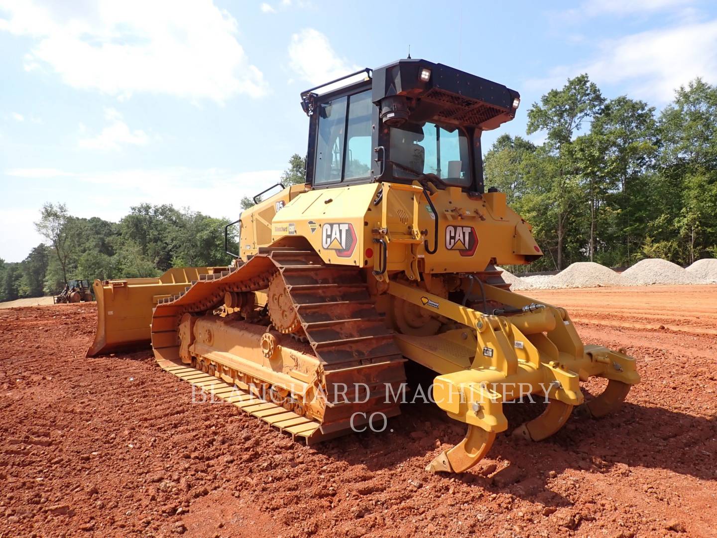
[[[301,90],[409,45],[521,93],[488,148],[525,135],[531,103],[580,72],[658,109],[696,76],[717,82],[717,6],[0,0],[0,258],[40,242],[44,202],[108,220],[141,202],[233,219],[305,153]]]

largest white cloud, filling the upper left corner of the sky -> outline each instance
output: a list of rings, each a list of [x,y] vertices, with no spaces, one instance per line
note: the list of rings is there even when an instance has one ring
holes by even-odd
[[[0,31],[34,39],[26,70],[49,70],[72,88],[123,98],[161,93],[223,103],[265,95],[267,83],[237,42],[237,28],[211,0],[0,0]]]

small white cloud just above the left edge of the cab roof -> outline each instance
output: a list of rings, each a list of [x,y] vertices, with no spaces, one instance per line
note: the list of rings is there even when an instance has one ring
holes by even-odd
[[[339,56],[328,37],[313,28],[305,28],[291,36],[289,65],[306,82],[320,84],[361,69]]]

